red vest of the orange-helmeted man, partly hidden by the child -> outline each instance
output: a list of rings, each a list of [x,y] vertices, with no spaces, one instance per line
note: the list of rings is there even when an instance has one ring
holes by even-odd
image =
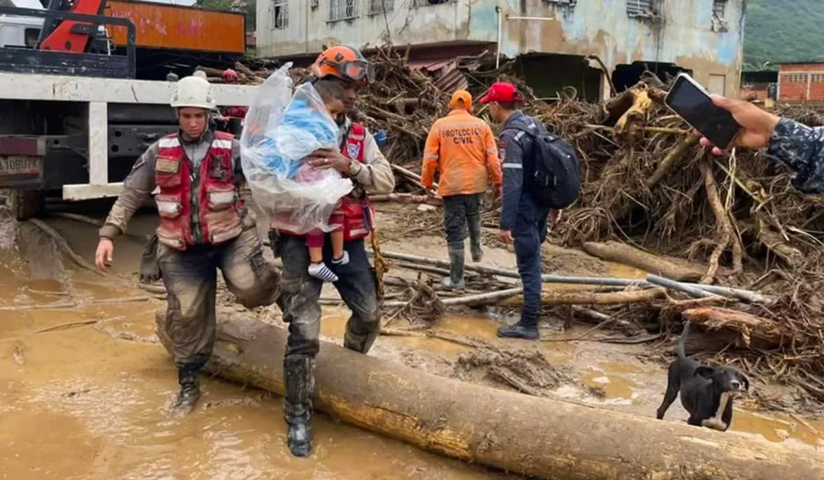
[[[363,150],[366,145],[366,128],[360,123],[352,123],[349,127],[349,134],[347,135],[340,152],[349,160],[356,160],[363,163]],[[352,195],[347,195],[341,198],[341,209],[344,212],[344,240],[358,240],[369,235],[372,226],[367,224],[367,215],[369,218],[374,218],[374,209],[369,198],[354,198]],[[287,217],[277,217],[273,219],[276,225],[288,225]],[[278,229],[282,235],[298,235],[287,228],[280,227]]]

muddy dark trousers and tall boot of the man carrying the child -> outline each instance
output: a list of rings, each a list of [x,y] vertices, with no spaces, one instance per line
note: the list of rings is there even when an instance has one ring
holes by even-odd
[[[309,250],[301,236],[271,235],[276,254],[283,259],[283,277],[278,305],[289,325],[286,356],[283,358],[283,384],[286,398],[283,417],[288,424],[287,443],[292,454],[311,453],[311,398],[315,389],[314,362],[320,350],[321,288],[323,282],[311,277]],[[323,256],[331,259],[331,242],[324,242]],[[349,263],[326,263],[339,277],[335,282],[352,316],[346,323],[344,347],[366,353],[380,331],[381,310],[377,300],[375,274],[363,240],[344,243]]]

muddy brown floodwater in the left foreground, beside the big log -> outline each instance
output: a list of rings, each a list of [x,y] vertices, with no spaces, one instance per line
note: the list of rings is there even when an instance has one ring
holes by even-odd
[[[113,340],[89,326],[28,334],[67,315],[123,313],[121,305],[106,310],[56,319],[27,312],[35,313],[29,328],[12,331],[3,322],[0,461],[9,478],[488,478],[322,415],[314,423],[316,453],[293,459],[279,398],[204,378],[200,407],[167,417],[176,372],[162,347]],[[129,322],[150,332],[153,308],[112,324]]]

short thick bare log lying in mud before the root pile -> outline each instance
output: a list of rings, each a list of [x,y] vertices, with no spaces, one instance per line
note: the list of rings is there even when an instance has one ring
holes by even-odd
[[[583,251],[607,262],[639,268],[647,273],[671,278],[677,282],[696,282],[705,274],[704,269],[696,265],[648,254],[619,242],[586,242],[583,244]]]

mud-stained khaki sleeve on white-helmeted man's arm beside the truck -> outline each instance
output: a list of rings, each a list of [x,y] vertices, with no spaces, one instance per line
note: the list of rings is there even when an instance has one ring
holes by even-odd
[[[114,239],[117,235],[125,233],[134,212],[137,212],[155,189],[156,161],[157,142],[134,162],[132,171],[123,181],[123,192],[111,207],[109,217],[106,217],[105,224],[101,227],[101,237]]]

